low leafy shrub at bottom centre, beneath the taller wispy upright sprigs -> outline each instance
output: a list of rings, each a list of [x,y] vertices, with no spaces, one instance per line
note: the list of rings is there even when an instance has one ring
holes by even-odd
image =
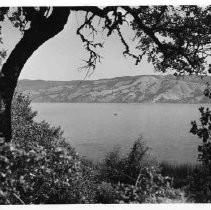
[[[184,192],[173,189],[169,178],[154,167],[143,168],[135,184],[102,183],[96,193],[99,203],[164,203],[186,202]]]

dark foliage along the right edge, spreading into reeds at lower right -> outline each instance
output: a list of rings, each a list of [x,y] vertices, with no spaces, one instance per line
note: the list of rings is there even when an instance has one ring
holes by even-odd
[[[209,85],[204,95],[211,98]],[[202,140],[198,146],[198,160],[200,165],[172,166],[161,163],[162,174],[174,178],[173,186],[184,188],[186,196],[197,203],[211,202],[211,111],[209,108],[200,107],[201,117],[199,123],[191,122],[190,132]]]

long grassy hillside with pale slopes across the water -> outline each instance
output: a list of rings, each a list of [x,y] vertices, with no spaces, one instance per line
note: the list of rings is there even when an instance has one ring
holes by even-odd
[[[20,80],[18,91],[33,102],[210,103],[206,81],[196,76],[143,75],[86,81]]]

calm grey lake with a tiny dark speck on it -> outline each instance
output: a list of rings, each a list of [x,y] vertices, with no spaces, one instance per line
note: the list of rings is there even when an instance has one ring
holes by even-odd
[[[190,122],[200,104],[32,103],[37,121],[61,126],[80,155],[101,160],[116,145],[125,154],[141,135],[158,160],[196,163],[197,145]],[[203,105],[211,107],[211,105]]]

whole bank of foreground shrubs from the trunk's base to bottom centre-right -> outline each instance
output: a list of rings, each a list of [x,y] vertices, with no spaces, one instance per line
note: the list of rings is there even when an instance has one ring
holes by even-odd
[[[0,203],[184,202],[139,138],[126,157],[114,149],[93,165],[65,142],[60,128],[35,122],[30,100],[16,95],[13,139],[0,147]]]

